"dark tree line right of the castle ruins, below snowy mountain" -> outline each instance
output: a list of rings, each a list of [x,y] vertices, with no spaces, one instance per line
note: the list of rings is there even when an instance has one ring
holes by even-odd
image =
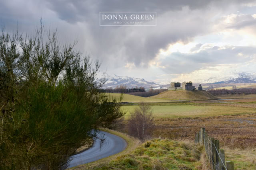
[[[256,94],[256,89],[255,88],[239,88],[239,89],[232,89],[232,90],[227,90],[227,89],[212,89],[212,90],[207,90],[210,94],[213,96],[221,96],[221,95],[247,95],[247,94]]]

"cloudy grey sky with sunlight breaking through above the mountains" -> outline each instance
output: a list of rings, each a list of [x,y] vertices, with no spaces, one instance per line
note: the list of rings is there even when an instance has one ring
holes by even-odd
[[[100,26],[106,11],[153,11],[157,25]],[[108,74],[166,84],[256,72],[256,0],[0,0],[8,31],[32,34],[40,18]]]

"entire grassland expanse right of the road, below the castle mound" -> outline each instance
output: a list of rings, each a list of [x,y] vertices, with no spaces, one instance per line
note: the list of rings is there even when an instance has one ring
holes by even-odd
[[[120,94],[112,94],[118,98]],[[199,158],[202,148],[194,145],[194,135],[201,127],[207,133],[220,140],[220,147],[225,150],[226,160],[234,161],[237,170],[256,169],[256,95],[221,96],[222,99],[235,100],[198,100],[170,102],[154,98],[142,98],[124,95],[122,106],[126,111],[125,120],[138,104],[148,102],[152,107],[155,138],[140,145],[133,143],[120,154],[105,158],[78,169],[208,169],[207,164]],[[125,132],[123,122],[120,131]],[[124,129],[122,129],[124,128]],[[125,137],[124,137],[125,138]],[[129,140],[129,139],[126,139]],[[186,144],[180,141],[187,141]],[[189,141],[189,142],[188,142]],[[147,146],[147,147],[145,147]],[[135,149],[135,150],[134,150]],[[114,159],[114,160],[113,160]],[[200,159],[200,160],[199,160]]]

